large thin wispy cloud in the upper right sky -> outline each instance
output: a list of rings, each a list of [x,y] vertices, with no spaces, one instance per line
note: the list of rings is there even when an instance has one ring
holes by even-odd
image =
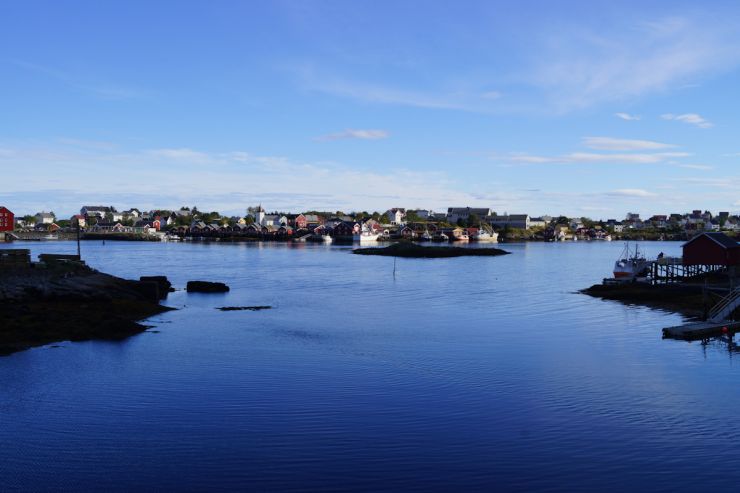
[[[729,19],[624,19],[599,31],[553,27],[523,79],[542,88],[556,109],[570,111],[675,90],[740,63],[740,38]]]

